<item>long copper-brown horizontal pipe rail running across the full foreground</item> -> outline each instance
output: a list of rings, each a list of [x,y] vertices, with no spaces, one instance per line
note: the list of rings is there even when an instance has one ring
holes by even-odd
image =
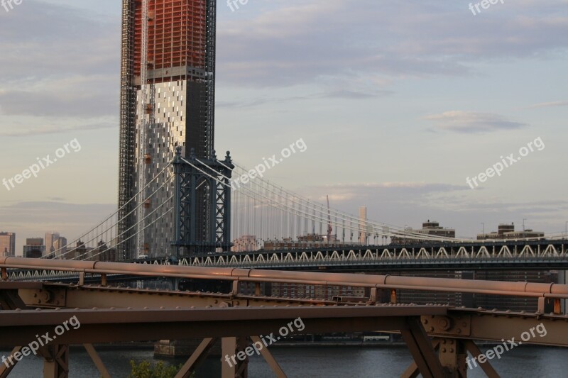
[[[317,285],[377,287],[420,291],[459,291],[507,296],[549,296],[568,298],[566,284],[532,282],[500,282],[469,279],[400,277],[391,275],[288,272],[229,267],[185,267],[176,265],[145,265],[125,262],[70,261],[0,257],[0,268],[72,271],[89,274],[129,274],[133,276],[220,279],[250,282],[289,282]]]

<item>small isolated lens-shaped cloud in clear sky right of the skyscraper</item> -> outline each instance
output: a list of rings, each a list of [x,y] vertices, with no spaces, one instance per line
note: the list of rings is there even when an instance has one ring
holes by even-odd
[[[528,126],[527,123],[508,121],[498,114],[474,111],[444,111],[444,113],[425,116],[424,119],[436,123],[435,129],[437,130],[454,133],[490,133]]]

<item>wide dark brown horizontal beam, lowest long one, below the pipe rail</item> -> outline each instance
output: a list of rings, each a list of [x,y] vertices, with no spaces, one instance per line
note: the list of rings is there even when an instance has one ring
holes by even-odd
[[[399,330],[405,317],[443,315],[444,306],[338,306],[290,308],[208,308],[147,310],[0,311],[0,346],[27,345],[36,334],[77,316],[80,327],[57,335],[58,343],[185,340],[268,334],[301,318],[295,333]]]

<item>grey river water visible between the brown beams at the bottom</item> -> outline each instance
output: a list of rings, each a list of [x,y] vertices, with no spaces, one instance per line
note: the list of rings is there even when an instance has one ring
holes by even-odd
[[[1,335],[0,335],[1,337]],[[484,348],[481,348],[484,350]],[[393,348],[273,348],[273,355],[283,367],[288,377],[325,377],[325,378],[366,378],[400,377],[410,364],[408,350],[403,347]],[[9,350],[0,350],[1,355],[8,355]],[[129,361],[140,362],[161,359],[153,357],[153,350],[99,350],[99,355],[107,365],[111,377],[129,376]],[[168,365],[178,365],[183,359],[162,360]],[[25,357],[18,362],[10,377],[42,377],[43,360],[38,357]],[[568,377],[568,349],[532,347],[521,345],[506,352],[501,360],[493,360],[493,367],[501,377]],[[219,377],[219,357],[209,358],[197,372],[197,378]],[[485,377],[481,368],[469,370],[469,377]],[[72,348],[70,352],[70,377],[100,377],[87,352],[82,348]],[[275,377],[261,357],[251,357],[249,377]]]

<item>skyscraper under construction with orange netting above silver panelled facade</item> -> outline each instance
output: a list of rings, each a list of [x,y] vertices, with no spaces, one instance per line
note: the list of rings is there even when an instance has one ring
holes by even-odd
[[[175,211],[153,211],[174,204],[176,148],[215,159],[215,22],[215,0],[123,0],[119,260],[168,255]]]

